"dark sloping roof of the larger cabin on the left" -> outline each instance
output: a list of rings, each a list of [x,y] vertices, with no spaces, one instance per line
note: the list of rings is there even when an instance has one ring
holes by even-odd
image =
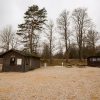
[[[8,52],[10,52],[10,51],[17,52],[17,53],[19,53],[20,55],[23,55],[23,56],[26,56],[26,57],[36,57],[36,58],[40,58],[40,56],[38,56],[38,55],[36,55],[36,54],[31,54],[31,53],[27,53],[27,52],[15,50],[15,49],[8,50],[8,51],[6,51],[6,52],[0,54],[0,56],[2,57],[3,55],[5,55],[6,53],[8,53]]]

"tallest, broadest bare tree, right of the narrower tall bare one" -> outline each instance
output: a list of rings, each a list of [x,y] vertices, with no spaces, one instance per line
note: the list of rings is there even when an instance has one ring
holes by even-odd
[[[72,13],[74,29],[76,32],[77,43],[79,47],[79,59],[82,60],[82,45],[84,34],[89,28],[90,19],[87,14],[87,9],[77,8]]]

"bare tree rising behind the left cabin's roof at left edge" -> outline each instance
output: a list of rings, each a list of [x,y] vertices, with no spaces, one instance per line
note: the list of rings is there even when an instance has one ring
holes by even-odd
[[[0,40],[2,43],[0,48],[2,48],[5,51],[17,47],[17,40],[15,39],[15,35],[14,32],[12,31],[11,26],[7,26],[6,28],[3,29],[3,31],[1,31]]]

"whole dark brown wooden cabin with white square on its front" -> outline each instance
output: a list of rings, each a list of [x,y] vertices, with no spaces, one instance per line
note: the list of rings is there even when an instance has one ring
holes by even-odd
[[[40,57],[11,49],[0,55],[3,58],[2,71],[29,71],[40,67]]]

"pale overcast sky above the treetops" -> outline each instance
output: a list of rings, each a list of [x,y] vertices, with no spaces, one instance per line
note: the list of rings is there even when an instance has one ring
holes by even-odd
[[[48,18],[55,20],[62,10],[73,11],[77,7],[86,7],[88,14],[100,31],[100,0],[0,0],[0,30],[6,25],[17,25],[23,20],[25,11],[29,6],[37,4],[45,7]]]

